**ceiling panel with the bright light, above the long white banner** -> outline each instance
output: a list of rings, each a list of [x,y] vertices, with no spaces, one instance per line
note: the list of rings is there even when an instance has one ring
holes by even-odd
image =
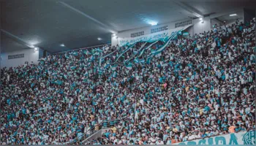
[[[150,21],[167,23],[194,17],[169,0],[63,0],[117,31],[149,26]]]

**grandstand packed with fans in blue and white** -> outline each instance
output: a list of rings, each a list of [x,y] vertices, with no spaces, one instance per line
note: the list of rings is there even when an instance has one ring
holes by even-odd
[[[0,145],[170,145],[255,129],[255,49],[254,18],[1,69]]]

